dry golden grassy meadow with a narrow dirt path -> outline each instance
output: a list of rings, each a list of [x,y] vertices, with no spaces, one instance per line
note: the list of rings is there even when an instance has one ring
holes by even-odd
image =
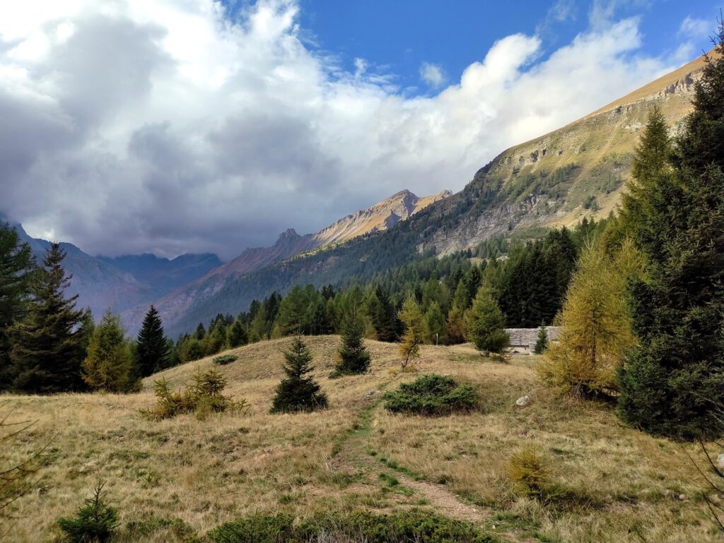
[[[117,542],[182,542],[250,513],[423,508],[470,521],[510,542],[714,542],[694,445],[623,427],[610,406],[540,387],[535,356],[494,363],[470,346],[422,350],[418,375],[439,372],[479,388],[480,411],[420,418],[387,414],[382,393],[416,375],[395,374],[395,345],[368,342],[371,372],[329,380],[339,338],[308,338],[330,407],[268,414],[290,340],[232,351],[217,367],[248,414],[153,422],[146,380],[132,396],[7,396],[14,421],[37,421],[12,456],[51,442],[41,479],[17,502],[0,534],[12,542],[54,541],[98,481],[119,509]],[[176,385],[211,359],[163,372]],[[158,377],[158,376],[154,376]],[[529,405],[515,406],[528,395]],[[564,498],[542,504],[513,492],[510,456],[534,445]]]

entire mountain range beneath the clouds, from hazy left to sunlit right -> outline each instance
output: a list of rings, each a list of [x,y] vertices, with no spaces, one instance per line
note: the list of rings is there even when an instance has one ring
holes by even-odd
[[[578,121],[510,147],[456,194],[417,197],[403,190],[315,234],[289,228],[271,247],[245,249],[230,262],[211,254],[92,257],[63,244],[65,267],[74,275],[69,294],[79,294],[79,305],[96,317],[107,307],[121,312],[131,334],[153,302],[167,333],[176,335],[295,283],[363,281],[491,236],[533,236],[541,227],[607,215],[620,202],[650,109],[659,106],[675,131],[691,109],[703,65],[699,57]],[[42,257],[48,242],[19,231]]]

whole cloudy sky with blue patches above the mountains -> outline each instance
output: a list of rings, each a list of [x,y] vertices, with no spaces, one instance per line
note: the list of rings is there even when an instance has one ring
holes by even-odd
[[[711,47],[715,0],[0,3],[0,213],[90,254],[317,231]]]

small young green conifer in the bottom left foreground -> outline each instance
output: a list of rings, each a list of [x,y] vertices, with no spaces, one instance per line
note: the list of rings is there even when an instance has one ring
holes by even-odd
[[[62,517],[58,526],[70,543],[105,542],[118,526],[116,508],[106,503],[103,484],[98,484],[93,497],[87,498],[74,516]]]

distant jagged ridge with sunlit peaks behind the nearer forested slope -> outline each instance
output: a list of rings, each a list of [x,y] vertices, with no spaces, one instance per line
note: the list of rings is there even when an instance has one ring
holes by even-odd
[[[300,236],[293,228],[279,234],[279,239],[271,247],[245,249],[235,259],[220,265],[196,281],[182,286],[167,296],[153,302],[164,319],[173,327],[174,322],[182,319],[192,307],[213,298],[224,285],[235,278],[251,273],[272,262],[286,260],[295,255],[310,252],[323,247],[342,244],[364,234],[374,234],[394,227],[400,221],[410,218],[434,202],[445,200],[452,192],[443,190],[439,194],[418,197],[409,190],[392,194],[370,208],[347,215],[327,226],[316,234]],[[129,330],[138,330],[146,307],[133,307],[122,315]],[[213,312],[213,310],[212,310]],[[216,313],[214,312],[214,315]],[[177,330],[171,328],[171,330]]]

